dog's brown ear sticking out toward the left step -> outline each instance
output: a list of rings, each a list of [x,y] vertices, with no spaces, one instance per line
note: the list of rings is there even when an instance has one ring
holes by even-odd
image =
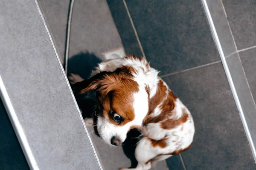
[[[79,94],[85,93],[86,91],[97,91],[97,89],[101,85],[101,80],[104,78],[104,76],[108,72],[102,71],[99,74],[96,74],[93,77],[90,77],[89,79],[86,79],[81,82],[77,82],[73,85],[71,85],[71,88],[73,89],[73,92],[78,92]]]

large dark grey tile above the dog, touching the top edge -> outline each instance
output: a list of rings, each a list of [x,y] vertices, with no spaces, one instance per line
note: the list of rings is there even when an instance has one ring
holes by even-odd
[[[161,75],[219,60],[200,0],[132,0],[127,5],[145,55]]]

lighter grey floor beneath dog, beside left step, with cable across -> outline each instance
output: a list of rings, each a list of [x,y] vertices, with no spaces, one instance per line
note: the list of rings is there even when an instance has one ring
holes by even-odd
[[[66,34],[65,24],[67,23],[69,1],[39,0],[39,3],[58,53],[63,60]],[[88,78],[96,64],[104,59],[102,56],[103,52],[122,47],[122,42],[111,17],[108,4],[102,0],[75,1],[70,37],[68,72],[75,72],[83,78]],[[121,147],[114,148],[108,146],[101,139],[94,136],[93,130],[90,127],[89,130],[104,170],[130,166],[130,161],[123,153]],[[155,170],[157,169],[167,169],[166,162],[162,161],[157,164]]]

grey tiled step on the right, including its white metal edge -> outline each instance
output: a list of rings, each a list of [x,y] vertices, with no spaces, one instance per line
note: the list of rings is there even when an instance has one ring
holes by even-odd
[[[255,16],[256,3],[253,0],[206,0],[209,7],[207,16],[212,18],[210,26],[215,42],[224,53],[230,72],[229,80],[233,82],[236,103],[243,118],[249,143],[253,148],[256,144],[256,103],[255,103]],[[206,7],[207,8],[207,7]],[[213,31],[214,32],[214,31]],[[218,42],[219,40],[219,42]],[[222,50],[221,50],[222,49]],[[227,52],[228,51],[228,52]],[[231,53],[230,53],[231,52]],[[241,106],[241,107],[240,107]],[[254,150],[254,149],[252,149]],[[253,152],[256,160],[256,152]]]

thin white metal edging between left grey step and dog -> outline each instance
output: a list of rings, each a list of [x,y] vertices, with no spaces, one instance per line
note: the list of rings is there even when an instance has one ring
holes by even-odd
[[[42,21],[43,21],[43,23],[44,23],[44,27],[45,27],[45,29],[46,29],[46,31],[47,31],[47,34],[48,34],[48,36],[49,36],[49,39],[50,39],[50,41],[51,41],[51,43],[52,43],[52,47],[53,47],[53,49],[54,49],[54,51],[55,51],[55,55],[56,55],[56,57],[57,57],[57,59],[58,59],[59,65],[61,66],[61,71],[62,71],[62,73],[63,73],[63,75],[64,75],[64,78],[65,78],[65,80],[66,80],[66,82],[67,82],[67,86],[68,86],[68,88],[69,88],[69,90],[70,90],[71,96],[72,96],[72,98],[73,98],[73,102],[74,102],[75,105],[76,105],[76,109],[77,109],[77,111],[78,111],[78,113],[79,113],[79,117],[80,117],[80,119],[81,119],[81,121],[82,121],[82,124],[83,124],[83,126],[84,126],[85,132],[86,132],[87,137],[88,137],[88,139],[89,139],[89,141],[90,141],[91,147],[92,147],[92,149],[93,149],[94,156],[95,156],[95,158],[96,158],[96,160],[97,160],[97,162],[98,162],[98,164],[99,164],[99,168],[100,168],[101,170],[103,170],[102,164],[101,164],[101,162],[100,162],[100,160],[99,160],[99,156],[98,156],[97,153],[96,153],[95,147],[94,147],[94,145],[93,145],[93,141],[92,141],[92,139],[91,139],[91,137],[90,137],[90,135],[89,135],[89,132],[88,132],[88,130],[87,130],[87,127],[85,126],[84,119],[83,119],[83,117],[82,117],[82,114],[81,114],[81,111],[80,111],[80,109],[79,109],[79,106],[78,106],[78,104],[77,104],[77,102],[76,102],[76,98],[75,98],[75,96],[74,96],[74,94],[73,94],[73,90],[72,90],[72,88],[71,88],[71,86],[70,86],[70,83],[69,83],[69,81],[68,81],[68,79],[67,79],[67,75],[65,74],[63,65],[61,64],[61,59],[60,59],[60,57],[59,57],[59,55],[58,55],[58,52],[57,52],[57,50],[56,50],[55,44],[54,44],[53,39],[52,39],[52,35],[50,34],[49,28],[48,28],[48,26],[47,26],[47,24],[46,24],[46,21],[45,21],[45,19],[44,19],[44,15],[43,15],[43,13],[42,13],[42,11],[41,11],[41,8],[40,8],[40,6],[39,6],[38,0],[35,0],[35,3],[36,3],[36,6],[37,6],[37,8],[38,8],[38,12],[39,12],[39,14],[41,15],[41,19],[42,19]]]

